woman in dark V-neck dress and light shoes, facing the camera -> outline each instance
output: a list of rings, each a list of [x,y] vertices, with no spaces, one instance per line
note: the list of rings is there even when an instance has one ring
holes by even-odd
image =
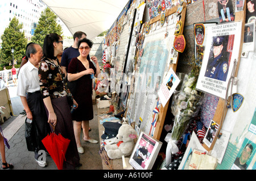
[[[92,75],[98,77],[100,74],[100,66],[96,56],[92,56],[90,59],[96,64],[93,65],[92,61],[88,61],[86,58],[92,48],[92,41],[88,39],[82,39],[78,43],[80,56],[71,60],[68,66],[68,81],[76,81],[76,92],[73,94],[74,99],[79,104],[79,107],[72,113],[74,121],[74,132],[76,137],[76,144],[79,153],[84,153],[84,149],[81,146],[80,134],[81,127],[84,133],[83,140],[93,144],[97,144],[97,140],[93,140],[89,136],[89,120],[93,119],[93,103],[92,103]]]

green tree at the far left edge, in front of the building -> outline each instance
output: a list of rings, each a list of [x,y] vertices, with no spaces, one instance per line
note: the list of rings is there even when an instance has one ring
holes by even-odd
[[[27,45],[27,39],[25,37],[24,31],[22,30],[22,24],[19,20],[14,17],[5,31],[1,36],[2,39],[2,50],[1,57],[3,63],[11,62],[13,63],[13,53],[11,49],[14,49],[14,60],[20,60],[25,53],[25,48]]]

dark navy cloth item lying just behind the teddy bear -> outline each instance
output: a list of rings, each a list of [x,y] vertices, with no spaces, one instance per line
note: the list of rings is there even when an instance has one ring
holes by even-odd
[[[105,128],[104,134],[101,135],[102,139],[109,139],[117,136],[118,130],[122,124],[113,123],[113,122],[105,122],[102,124]]]

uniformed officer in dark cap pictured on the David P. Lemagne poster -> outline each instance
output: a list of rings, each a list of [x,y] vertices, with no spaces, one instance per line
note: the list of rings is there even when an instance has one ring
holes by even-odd
[[[213,37],[213,54],[209,56],[205,77],[226,81],[229,70],[229,52],[223,50],[224,37]]]

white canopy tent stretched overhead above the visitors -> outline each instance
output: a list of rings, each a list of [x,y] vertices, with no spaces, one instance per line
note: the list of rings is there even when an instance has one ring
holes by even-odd
[[[129,0],[43,0],[68,30],[83,31],[93,39],[108,30]]]

